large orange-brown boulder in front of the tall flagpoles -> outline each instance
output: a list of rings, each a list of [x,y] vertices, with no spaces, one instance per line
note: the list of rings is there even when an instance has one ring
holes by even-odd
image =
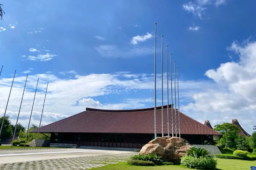
[[[192,148],[192,145],[187,140],[179,137],[157,137],[148,144],[141,148],[139,154],[157,154],[162,156],[163,160],[166,161],[180,161],[180,158],[184,156]]]

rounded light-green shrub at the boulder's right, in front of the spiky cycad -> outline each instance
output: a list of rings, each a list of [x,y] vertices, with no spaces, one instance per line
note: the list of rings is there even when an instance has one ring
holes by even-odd
[[[181,165],[195,169],[216,169],[217,160],[211,156],[200,156],[198,158],[186,154],[181,158]]]

